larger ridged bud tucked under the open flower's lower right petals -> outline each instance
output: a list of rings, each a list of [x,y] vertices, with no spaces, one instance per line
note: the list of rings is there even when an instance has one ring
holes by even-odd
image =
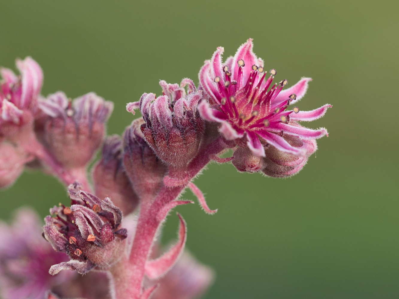
[[[299,125],[296,124],[296,126]],[[269,177],[290,177],[298,173],[308,161],[309,156],[317,149],[314,139],[301,140],[299,137],[288,134],[283,134],[282,138],[292,147],[304,149],[306,153],[303,156],[296,156],[269,145],[265,148],[266,157],[263,158],[265,167],[262,169],[263,173]]]

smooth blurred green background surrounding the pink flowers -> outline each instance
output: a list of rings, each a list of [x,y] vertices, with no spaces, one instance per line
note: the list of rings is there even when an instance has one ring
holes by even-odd
[[[205,298],[397,298],[399,197],[397,1],[1,1],[0,64],[31,55],[42,93],[95,91],[115,102],[110,134],[134,118],[125,104],[180,83],[217,46],[248,37],[288,86],[312,77],[301,110],[330,103],[310,123],[330,136],[289,179],[212,164],[196,183],[218,208],[178,210],[187,247],[217,279]],[[190,192],[185,198],[194,199]],[[0,216],[67,203],[52,177],[25,172],[0,192]],[[176,236],[169,216],[163,242]]]

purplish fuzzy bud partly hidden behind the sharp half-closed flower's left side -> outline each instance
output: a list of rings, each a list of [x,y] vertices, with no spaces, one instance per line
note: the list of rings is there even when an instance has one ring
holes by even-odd
[[[142,198],[154,197],[162,187],[166,165],[158,159],[144,140],[140,126],[142,118],[133,120],[123,134],[123,164],[134,191]]]

